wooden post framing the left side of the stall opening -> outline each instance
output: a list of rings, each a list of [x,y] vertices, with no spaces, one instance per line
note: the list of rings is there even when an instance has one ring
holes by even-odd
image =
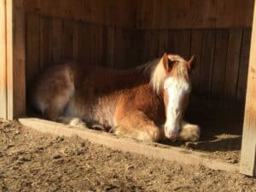
[[[22,0],[0,0],[0,118],[26,113],[26,39]]]

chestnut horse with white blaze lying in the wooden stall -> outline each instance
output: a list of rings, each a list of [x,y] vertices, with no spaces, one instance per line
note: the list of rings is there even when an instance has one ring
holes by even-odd
[[[194,55],[166,53],[125,70],[62,63],[35,80],[30,101],[45,119],[69,125],[101,125],[140,141],[197,141],[200,127],[183,120],[194,68]]]

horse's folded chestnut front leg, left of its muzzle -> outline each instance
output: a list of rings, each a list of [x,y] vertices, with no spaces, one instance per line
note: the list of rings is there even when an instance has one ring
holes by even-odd
[[[115,135],[132,137],[141,141],[157,142],[160,140],[160,128],[137,109],[117,110],[114,122],[116,124],[113,128]]]

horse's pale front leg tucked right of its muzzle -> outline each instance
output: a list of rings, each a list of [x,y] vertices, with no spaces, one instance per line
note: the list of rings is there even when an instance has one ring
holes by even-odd
[[[189,124],[186,121],[182,122],[182,130],[179,133],[177,140],[183,142],[198,141],[201,135],[200,127],[198,125]]]

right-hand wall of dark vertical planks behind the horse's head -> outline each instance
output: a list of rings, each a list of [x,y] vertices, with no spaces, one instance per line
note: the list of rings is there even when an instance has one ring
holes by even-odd
[[[251,28],[170,29],[143,31],[138,61],[177,53],[196,55],[193,88],[197,94],[244,102]]]

